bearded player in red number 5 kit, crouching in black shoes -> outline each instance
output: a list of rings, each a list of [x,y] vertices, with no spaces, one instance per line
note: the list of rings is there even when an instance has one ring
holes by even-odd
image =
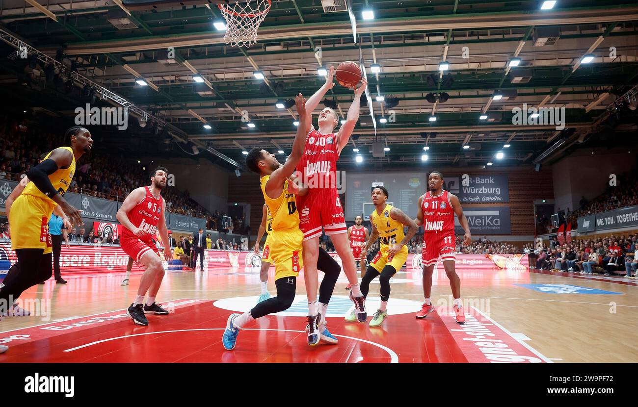
[[[119,211],[117,220],[124,226],[120,245],[124,253],[129,255],[137,265],[142,267],[144,274],[140,279],[140,287],[133,304],[126,310],[126,315],[138,325],[149,325],[144,314],[166,315],[168,311],[155,303],[155,297],[164,278],[164,267],[152,237],[159,230],[159,237],[164,242],[164,256],[172,258],[168,244],[168,228],[165,220],[166,202],[159,195],[166,186],[168,170],[158,166],[151,172],[151,185],[134,189]],[[144,295],[149,298],[144,304]]]

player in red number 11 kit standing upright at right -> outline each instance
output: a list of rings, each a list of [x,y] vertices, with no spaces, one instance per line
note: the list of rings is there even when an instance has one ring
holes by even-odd
[[[459,223],[465,231],[463,242],[469,246],[472,242],[468,218],[463,214],[461,202],[456,195],[443,190],[443,175],[433,171],[427,178],[430,190],[419,197],[419,211],[417,225],[423,225],[423,293],[426,302],[417,318],[426,318],[434,311],[430,297],[432,292],[432,273],[439,255],[443,262],[443,269],[450,279],[452,295],[454,296],[454,313],[457,323],[465,323],[465,314],[461,304],[461,279],[456,274],[456,237],[454,235],[454,214],[459,218]]]

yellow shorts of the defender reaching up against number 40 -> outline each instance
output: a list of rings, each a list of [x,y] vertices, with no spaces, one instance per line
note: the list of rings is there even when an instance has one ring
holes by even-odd
[[[304,266],[302,241],[304,233],[299,229],[275,231],[268,236],[269,257],[275,263],[275,281],[284,277],[297,277]]]

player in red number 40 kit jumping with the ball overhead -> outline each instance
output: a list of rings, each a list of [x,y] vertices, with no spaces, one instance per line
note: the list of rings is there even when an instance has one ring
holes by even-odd
[[[306,101],[307,112],[313,112],[325,93],[332,89],[334,86],[333,75],[334,66],[330,66],[325,84]],[[319,285],[317,276],[319,237],[322,235],[323,227],[325,234],[330,236],[334,248],[341,257],[343,270],[352,287],[350,299],[357,309],[357,319],[362,323],[366,322],[366,306],[359,288],[357,266],[350,250],[346,221],[336,188],[336,166],[341,150],[348,144],[352,130],[359,121],[361,94],[364,93],[366,87],[367,82],[364,78],[362,85],[355,89],[352,105],[348,109],[348,116],[344,124],[336,133],[334,128],[339,122],[339,116],[334,110],[325,108],[320,112],[317,121],[318,130],[313,127],[312,114],[308,114],[306,124],[309,131],[304,156],[297,164],[297,174],[302,187],[297,196],[299,228],[304,232],[304,282],[306,283],[310,315],[319,313],[323,317],[328,306],[328,304],[317,304],[316,302],[317,286]]]

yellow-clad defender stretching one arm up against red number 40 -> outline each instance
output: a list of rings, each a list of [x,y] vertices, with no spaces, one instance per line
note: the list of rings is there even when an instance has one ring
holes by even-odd
[[[272,214],[272,233],[270,234],[270,253],[275,263],[276,297],[258,303],[244,314],[232,314],[226,322],[222,343],[226,350],[232,350],[237,343],[237,335],[246,324],[262,316],[285,311],[295,299],[297,276],[303,266],[302,241],[304,234],[299,229],[299,212],[295,195],[288,191],[288,177],[295,171],[304,154],[306,142],[306,100],[299,94],[295,100],[299,113],[299,126],[292,144],[290,156],[283,166],[274,154],[263,149],[252,149],[246,156],[246,165],[260,175],[263,199]],[[308,316],[308,343],[316,344],[320,339],[316,316]]]

